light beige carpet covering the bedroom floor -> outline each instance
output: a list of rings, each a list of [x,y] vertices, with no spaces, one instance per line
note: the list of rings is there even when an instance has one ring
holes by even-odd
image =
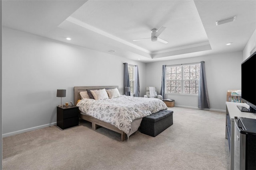
[[[227,170],[224,112],[169,107],[173,125],[156,137],[129,141],[91,123],[46,127],[3,138],[4,170]]]

